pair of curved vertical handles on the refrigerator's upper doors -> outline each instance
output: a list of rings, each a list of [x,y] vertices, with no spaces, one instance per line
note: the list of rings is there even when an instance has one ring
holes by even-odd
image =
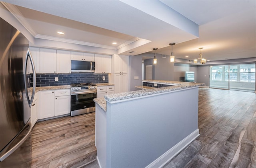
[[[31,66],[32,66],[32,71],[33,71],[33,90],[32,90],[32,96],[31,96],[31,100],[29,100],[29,96],[28,96],[28,86],[26,85],[26,81],[27,81],[27,64],[28,64],[28,58],[31,62]],[[36,70],[35,70],[35,65],[33,62],[33,59],[31,57],[30,51],[28,49],[27,51],[27,55],[26,55],[26,61],[25,61],[25,74],[24,74],[24,82],[25,82],[25,90],[26,90],[26,95],[27,95],[27,99],[28,99],[28,105],[31,108],[33,100],[34,100],[34,96],[35,96],[35,91],[36,91]]]

